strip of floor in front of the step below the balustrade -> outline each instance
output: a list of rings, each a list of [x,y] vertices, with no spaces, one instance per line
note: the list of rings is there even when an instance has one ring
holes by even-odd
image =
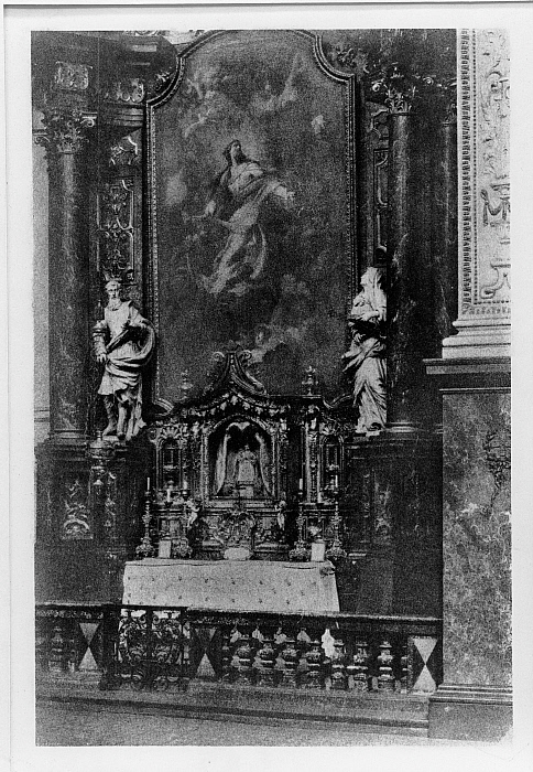
[[[242,722],[139,714],[117,704],[39,700],[39,746],[475,746],[297,721]]]

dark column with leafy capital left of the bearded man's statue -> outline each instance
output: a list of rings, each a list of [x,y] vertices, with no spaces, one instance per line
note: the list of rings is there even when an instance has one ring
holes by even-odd
[[[55,440],[84,438],[87,421],[88,261],[86,154],[94,116],[46,110],[50,174],[50,423]]]

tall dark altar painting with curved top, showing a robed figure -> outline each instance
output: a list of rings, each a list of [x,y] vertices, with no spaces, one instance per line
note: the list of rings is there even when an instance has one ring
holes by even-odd
[[[339,393],[355,264],[355,81],[297,31],[211,32],[148,104],[153,395],[252,352],[270,394]]]

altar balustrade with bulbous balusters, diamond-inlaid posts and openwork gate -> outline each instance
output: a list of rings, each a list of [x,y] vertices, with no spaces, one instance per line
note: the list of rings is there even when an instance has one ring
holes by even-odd
[[[431,693],[442,620],[182,607],[36,607],[37,673],[100,673],[101,689],[186,689],[192,680],[308,689]]]

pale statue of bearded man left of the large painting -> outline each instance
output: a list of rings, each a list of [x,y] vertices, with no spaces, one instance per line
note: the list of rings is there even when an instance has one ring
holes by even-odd
[[[108,418],[104,435],[130,440],[144,426],[142,369],[152,356],[155,332],[131,300],[120,298],[120,279],[107,282],[108,304],[93,339],[96,358],[105,365],[98,389]]]

